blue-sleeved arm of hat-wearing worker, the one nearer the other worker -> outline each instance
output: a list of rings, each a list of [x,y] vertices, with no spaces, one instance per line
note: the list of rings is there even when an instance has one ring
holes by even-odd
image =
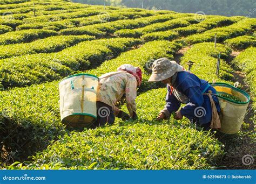
[[[164,113],[164,119],[169,119],[172,112],[176,112],[180,108],[180,102],[177,98],[171,93],[171,89],[167,86],[167,94],[166,94],[166,105],[163,110],[159,112],[159,114]]]

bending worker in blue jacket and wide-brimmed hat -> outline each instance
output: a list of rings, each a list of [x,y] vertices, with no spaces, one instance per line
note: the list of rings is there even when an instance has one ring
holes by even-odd
[[[149,81],[167,84],[166,105],[159,112],[158,120],[169,119],[175,112],[174,119],[179,120],[185,116],[205,130],[220,128],[220,106],[214,95],[217,92],[207,81],[187,72],[176,61],[166,58],[154,61]],[[181,103],[186,105],[179,110]]]

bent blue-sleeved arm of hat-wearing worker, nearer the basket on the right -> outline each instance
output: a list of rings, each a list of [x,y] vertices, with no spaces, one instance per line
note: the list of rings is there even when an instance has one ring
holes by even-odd
[[[199,87],[187,88],[185,90],[185,95],[189,98],[189,103],[187,103],[183,108],[181,108],[181,115],[185,116],[188,119],[192,119],[197,114],[200,114],[201,112],[205,111],[205,109],[201,107],[204,103],[204,97],[203,94],[201,94],[201,90]],[[198,108],[198,110],[196,110],[197,107],[201,108]]]

